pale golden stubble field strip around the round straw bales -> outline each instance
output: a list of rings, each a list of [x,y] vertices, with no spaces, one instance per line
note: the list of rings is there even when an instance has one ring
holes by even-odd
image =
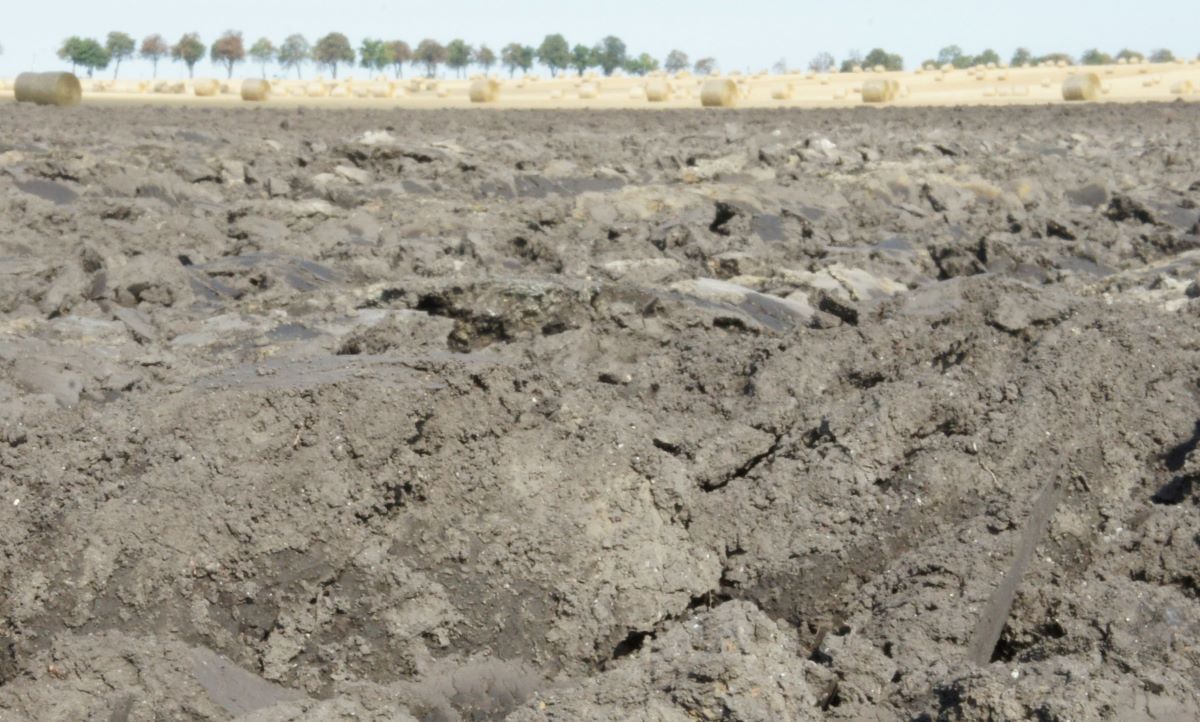
[[[1099,76],[1105,102],[1147,102],[1183,98],[1200,100],[1200,64],[1141,64],[1092,67],[1021,67],[889,73],[755,74],[727,76],[740,89],[738,107],[745,108],[836,108],[862,104],[862,85],[871,79],[893,79],[900,95],[895,106],[986,106],[1061,103],[1062,83],[1070,76],[1094,72]],[[500,92],[488,107],[499,108],[691,108],[700,106],[700,86],[707,78],[602,78],[560,76],[557,79],[500,78]],[[644,96],[647,83],[665,80],[671,94],[661,102]],[[221,82],[212,96],[198,97],[196,82],[84,80],[85,103],[194,103],[202,106],[241,104],[240,79]],[[466,108],[470,80],[420,80],[390,78],[314,78],[274,80],[272,106],[319,106],[347,108]],[[12,96],[12,79],[0,80],[0,98]],[[166,91],[155,91],[161,84]],[[590,84],[594,97],[584,84]],[[581,97],[581,88],[583,90]]]

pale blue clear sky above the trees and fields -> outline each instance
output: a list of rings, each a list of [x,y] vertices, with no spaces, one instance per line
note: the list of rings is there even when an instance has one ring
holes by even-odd
[[[660,60],[672,48],[692,60],[710,55],[722,70],[757,71],[780,59],[803,67],[828,50],[883,47],[908,67],[955,43],[968,53],[995,48],[1003,58],[1019,46],[1034,54],[1078,55],[1099,47],[1148,52],[1170,48],[1188,58],[1200,53],[1200,6],[1195,0],[8,0],[0,23],[0,76],[56,70],[62,38],[109,30],[142,38],[162,34],[174,42],[199,32],[211,42],[227,29],[241,30],[247,47],[266,36],[278,43],[292,32],[310,40],[336,30],[358,46],[364,36],[442,42],[462,37],[493,50],[510,42],[536,46],[548,32],[575,44],[605,35],[622,37],[634,53]],[[122,66],[122,77],[149,77],[149,64]],[[197,74],[216,74],[204,60]],[[241,73],[254,72],[251,67]],[[311,71],[310,71],[311,72]],[[185,74],[166,62],[161,77]]]

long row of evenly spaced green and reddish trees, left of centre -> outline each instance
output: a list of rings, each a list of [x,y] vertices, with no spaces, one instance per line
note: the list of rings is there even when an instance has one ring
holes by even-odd
[[[294,71],[298,78],[304,77],[307,64],[328,70],[334,78],[340,68],[354,67],[355,64],[374,72],[390,70],[397,78],[403,77],[406,65],[421,68],[428,77],[436,76],[442,66],[454,71],[456,77],[462,77],[472,66],[491,72],[497,65],[508,70],[511,77],[517,71],[529,72],[535,62],[550,68],[551,76],[556,77],[566,72],[582,76],[593,68],[605,76],[618,70],[634,76],[644,76],[660,68],[676,73],[694,67],[697,73],[704,74],[716,70],[715,59],[702,58],[692,64],[683,50],[671,50],[660,64],[649,53],[630,53],[624,41],[616,36],[605,37],[593,46],[571,46],[558,34],[547,35],[536,48],[509,43],[497,54],[486,44],[472,46],[461,38],[445,44],[426,38],[413,48],[401,40],[368,37],[355,48],[341,32],[330,32],[314,43],[298,34],[289,35],[278,46],[268,37],[260,37],[247,48],[242,34],[236,30],[224,32],[211,46],[206,46],[196,32],[182,35],[173,44],[162,35],[149,35],[139,44],[130,35],[113,31],[103,43],[96,38],[71,36],[62,42],[58,55],[71,64],[72,71],[88,71],[88,77],[94,77],[96,71],[112,65],[113,78],[120,73],[121,62],[134,56],[154,65],[155,78],[158,77],[158,62],[167,59],[182,62],[188,77],[194,77],[196,65],[205,55],[230,78],[234,67],[247,60],[260,67],[264,78],[266,68],[272,64],[277,64],[284,73]]]

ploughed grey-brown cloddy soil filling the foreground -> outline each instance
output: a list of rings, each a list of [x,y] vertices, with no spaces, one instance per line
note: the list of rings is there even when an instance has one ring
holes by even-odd
[[[1200,716],[1200,107],[0,110],[0,720]]]

